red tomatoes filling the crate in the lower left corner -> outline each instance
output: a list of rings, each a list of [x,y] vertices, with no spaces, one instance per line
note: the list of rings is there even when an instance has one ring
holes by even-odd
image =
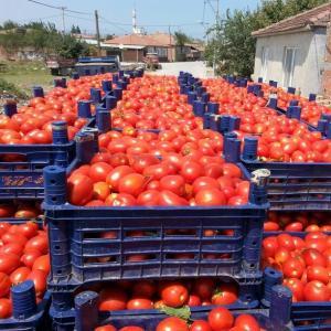
[[[0,319],[12,314],[10,288],[32,280],[36,302],[46,290],[50,273],[49,238],[34,222],[11,225],[0,222]]]

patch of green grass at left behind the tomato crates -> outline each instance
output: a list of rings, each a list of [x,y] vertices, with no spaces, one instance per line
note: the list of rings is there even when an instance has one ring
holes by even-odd
[[[42,62],[1,62],[0,79],[13,84],[14,87],[31,96],[32,87],[43,86],[45,90],[53,85],[53,76]]]

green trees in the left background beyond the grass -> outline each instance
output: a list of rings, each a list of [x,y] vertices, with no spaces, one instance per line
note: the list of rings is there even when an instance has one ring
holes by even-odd
[[[19,51],[24,52],[26,47],[45,58],[49,55],[65,58],[88,55],[88,45],[85,42],[76,40],[71,34],[61,33],[53,23],[30,22],[19,25],[10,21],[4,22],[2,28],[6,29],[2,29],[0,34],[0,45],[9,55]],[[75,29],[79,30],[78,26]]]

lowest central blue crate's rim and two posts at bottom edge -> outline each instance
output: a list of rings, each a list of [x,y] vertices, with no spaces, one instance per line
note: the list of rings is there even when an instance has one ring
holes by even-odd
[[[235,306],[227,307],[236,317],[243,313],[253,314],[261,327],[267,330],[292,330],[289,320],[291,295],[284,287],[275,287],[273,289],[273,305],[269,310],[236,310]],[[71,314],[75,316],[74,324],[58,324],[58,320],[54,319],[54,329],[56,331],[70,331],[75,328],[77,331],[92,330],[99,324],[111,323],[116,328],[127,325],[138,325],[146,331],[156,330],[157,324],[168,316],[158,310],[126,310],[126,311],[106,311],[98,312],[98,295],[93,291],[85,291],[75,297],[75,309]],[[215,307],[191,308],[190,320],[206,319],[207,313]],[[52,314],[52,309],[51,309]],[[57,316],[58,318],[60,316]],[[63,318],[66,317],[63,314]],[[64,321],[64,320],[63,320]]]

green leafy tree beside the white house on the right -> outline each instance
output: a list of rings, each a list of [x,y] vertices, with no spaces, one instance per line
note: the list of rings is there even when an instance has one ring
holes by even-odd
[[[250,76],[254,72],[255,43],[252,32],[279,22],[328,0],[263,0],[254,10],[227,12],[226,19],[207,31],[205,50],[209,64],[218,73]]]

